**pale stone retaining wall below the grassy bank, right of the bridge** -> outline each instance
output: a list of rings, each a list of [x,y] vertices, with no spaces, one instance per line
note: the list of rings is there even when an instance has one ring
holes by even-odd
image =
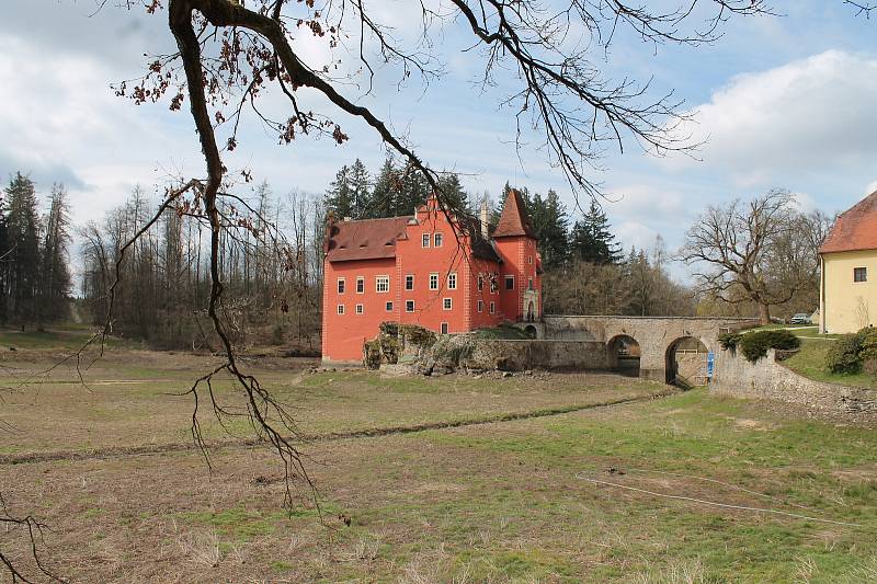
[[[808,379],[777,363],[774,350],[756,363],[734,351],[721,351],[709,388],[739,398],[778,400],[877,420],[877,390]]]

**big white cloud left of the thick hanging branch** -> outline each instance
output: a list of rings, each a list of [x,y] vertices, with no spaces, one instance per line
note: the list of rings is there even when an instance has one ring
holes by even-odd
[[[99,218],[136,183],[163,179],[159,162],[197,152],[194,138],[172,138],[182,128],[167,105],[116,98],[109,88],[116,73],[94,57],[47,54],[7,35],[0,44],[0,172],[32,172],[41,192],[66,182],[76,222]]]

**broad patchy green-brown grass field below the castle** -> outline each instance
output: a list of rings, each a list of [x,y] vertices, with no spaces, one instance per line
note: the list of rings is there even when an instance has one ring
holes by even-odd
[[[88,388],[69,367],[21,388],[52,355],[2,363],[14,391],[0,419],[15,430],[0,434],[0,491],[52,526],[45,558],[72,581],[877,581],[874,427],[706,390],[648,399],[668,389],[610,375],[411,379],[259,362],[318,438],[305,450],[322,511],[299,483],[289,515],[271,453],[215,424],[213,471],[190,447],[191,400],[170,393],[209,358],[118,348]],[[227,385],[218,393],[237,403]],[[601,406],[624,400],[639,401]],[[402,432],[442,423],[467,425]],[[396,432],[332,437],[379,428]],[[0,549],[26,562],[20,535],[0,531]]]

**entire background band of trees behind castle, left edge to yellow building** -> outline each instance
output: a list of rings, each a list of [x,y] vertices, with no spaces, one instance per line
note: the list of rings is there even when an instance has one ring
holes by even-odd
[[[477,215],[488,201],[496,225],[512,188],[467,193],[459,178],[442,175],[459,213]],[[818,247],[832,218],[796,210],[794,196],[774,190],[751,202],[708,207],[675,254],[658,237],[648,249],[628,248],[592,201],[573,218],[555,191],[516,187],[539,238],[547,313],[637,316],[778,314],[818,306]],[[295,343],[316,347],[322,288],[326,215],[377,218],[409,215],[430,190],[417,173],[387,158],[372,175],[361,160],[344,165],[322,197],[298,192],[276,196],[262,183],[237,205],[224,204],[228,229],[219,244],[227,291],[224,318],[238,343]],[[69,202],[53,185],[41,211],[34,182],[10,178],[0,199],[0,322],[42,328],[70,317]],[[166,209],[141,238],[122,250],[156,213],[158,197],[135,188],[127,201],[76,229],[81,240],[80,306],[104,324],[113,297],[117,334],[160,347],[213,348],[205,306],[209,296],[208,239],[204,217],[180,206]],[[235,199],[232,199],[235,201]],[[745,259],[745,262],[734,259]],[[674,282],[668,264],[695,267],[694,285]],[[113,283],[118,283],[113,288]]]

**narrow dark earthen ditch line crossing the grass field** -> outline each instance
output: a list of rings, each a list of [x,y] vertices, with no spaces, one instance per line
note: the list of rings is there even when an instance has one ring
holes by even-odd
[[[327,434],[315,434],[300,436],[297,439],[303,443],[309,442],[331,442],[355,438],[374,438],[380,436],[391,436],[397,434],[412,434],[417,432],[426,432],[431,430],[448,430],[466,426],[477,426],[483,424],[499,424],[514,422],[517,420],[532,420],[536,417],[549,417],[554,415],[568,414],[580,412],[584,410],[596,410],[602,408],[611,408],[614,405],[623,405],[627,403],[637,403],[641,401],[650,401],[654,399],[667,398],[680,393],[679,390],[667,388],[656,393],[648,396],[639,396],[634,398],[620,398],[617,400],[603,401],[597,403],[584,403],[563,405],[559,408],[548,408],[540,410],[532,410],[526,412],[508,412],[494,415],[488,415],[468,420],[449,420],[445,422],[429,422],[424,424],[413,424],[403,426],[387,426],[375,427],[365,430],[355,430],[350,432],[330,432]],[[208,445],[210,450],[224,448],[250,448],[264,444],[255,438],[224,440]],[[107,458],[124,458],[133,456],[156,456],[169,453],[182,453],[190,450],[197,450],[198,446],[192,443],[175,443],[164,445],[149,445],[149,446],[127,446],[127,447],[109,447],[96,448],[93,450],[55,450],[47,453],[32,453],[23,455],[0,455],[0,466],[10,465],[26,465],[34,462],[49,462],[54,460],[100,460]]]

